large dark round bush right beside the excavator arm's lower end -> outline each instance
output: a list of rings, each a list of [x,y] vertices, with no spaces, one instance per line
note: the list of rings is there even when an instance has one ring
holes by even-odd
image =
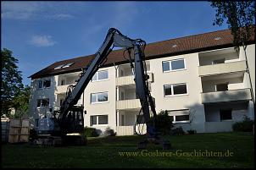
[[[150,118],[149,124],[153,125],[154,118]],[[163,134],[170,134],[171,128],[173,127],[172,119],[168,114],[168,111],[161,111],[159,114],[157,114],[157,117],[155,119],[155,126],[157,130]]]

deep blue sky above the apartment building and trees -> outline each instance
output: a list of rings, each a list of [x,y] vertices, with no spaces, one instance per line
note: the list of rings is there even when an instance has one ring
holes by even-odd
[[[214,26],[209,2],[1,2],[1,48],[19,59],[23,83],[31,74],[69,58],[97,52],[110,27],[147,43],[191,36]]]

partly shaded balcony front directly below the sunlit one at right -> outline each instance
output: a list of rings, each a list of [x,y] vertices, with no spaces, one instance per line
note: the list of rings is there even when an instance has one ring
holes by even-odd
[[[225,90],[202,93],[202,103],[225,101],[248,101],[252,99],[250,89]]]

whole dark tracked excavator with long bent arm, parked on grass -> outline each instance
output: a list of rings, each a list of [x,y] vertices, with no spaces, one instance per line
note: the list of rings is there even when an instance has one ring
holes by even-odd
[[[149,76],[147,75],[144,55],[146,42],[142,39],[131,39],[124,36],[115,28],[109,29],[102,46],[95,54],[95,58],[92,58],[91,62],[82,69],[76,84],[67,88],[66,97],[60,108],[53,111],[53,118],[40,119],[38,136],[33,140],[34,143],[42,145],[86,145],[86,138],[81,135],[84,129],[83,114],[86,111],[84,112],[83,107],[75,106],[75,104],[86,89],[86,85],[92,80],[93,75],[107,61],[107,57],[114,47],[123,48],[125,49],[124,53],[129,53],[129,58],[126,59],[135,76],[136,95],[142,106],[140,112],[142,112],[144,122],[147,125],[146,138],[138,143],[138,149],[145,149],[148,143],[161,144],[164,150],[170,149],[170,141],[159,138],[159,131],[156,126],[157,113],[147,82]],[[133,56],[131,56],[131,52],[133,52]],[[151,118],[149,108],[153,112],[153,118]]]

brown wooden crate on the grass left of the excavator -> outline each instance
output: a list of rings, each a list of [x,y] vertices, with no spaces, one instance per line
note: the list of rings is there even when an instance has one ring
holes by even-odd
[[[9,123],[9,143],[28,142],[30,136],[30,122],[28,119],[11,119]]]

